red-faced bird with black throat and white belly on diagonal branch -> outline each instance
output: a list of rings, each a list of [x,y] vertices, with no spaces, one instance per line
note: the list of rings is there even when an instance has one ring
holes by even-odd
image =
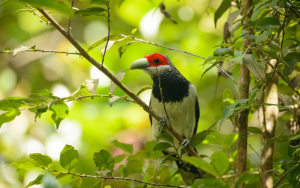
[[[157,136],[165,131],[162,128],[163,124],[168,123],[184,138],[182,143],[174,139],[175,146],[186,147],[190,143],[191,137],[197,133],[200,117],[196,87],[177,70],[166,55],[160,53],[146,55],[144,58],[134,61],[130,69],[141,69],[153,80],[149,107],[162,117],[161,121],[157,121],[149,115],[153,139],[163,142],[163,140],[157,139]],[[172,147],[163,151],[163,154],[170,154],[178,158],[178,152],[180,151],[176,153],[175,148]],[[185,172],[181,173],[185,182],[203,178],[205,172],[201,169],[190,164],[183,164],[181,161],[175,161],[178,168]]]

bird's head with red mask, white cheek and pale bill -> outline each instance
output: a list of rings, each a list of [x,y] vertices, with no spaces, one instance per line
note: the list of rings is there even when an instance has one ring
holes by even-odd
[[[154,53],[146,55],[144,58],[138,59],[133,62],[130,69],[142,69],[150,75],[154,75],[157,72],[160,74],[165,71],[170,71],[172,63],[169,58],[163,54]]]

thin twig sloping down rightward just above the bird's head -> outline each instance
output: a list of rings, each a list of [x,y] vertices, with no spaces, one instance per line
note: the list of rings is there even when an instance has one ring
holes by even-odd
[[[158,46],[158,47],[162,47],[162,48],[166,48],[168,50],[173,50],[173,51],[177,51],[177,52],[181,52],[181,53],[185,53],[185,54],[189,54],[191,56],[195,56],[195,57],[198,57],[198,58],[201,58],[203,60],[206,60],[206,58],[202,57],[202,56],[199,56],[199,55],[196,55],[196,54],[193,54],[191,52],[187,52],[187,51],[183,51],[183,50],[178,50],[178,49],[175,49],[175,48],[170,48],[168,46],[163,46],[163,45],[160,45],[160,44],[156,44],[154,42],[149,42],[149,41],[145,41],[143,39],[138,39],[138,38],[135,38],[133,36],[127,36],[127,35],[123,35],[123,34],[119,34],[119,36],[122,36],[122,37],[127,37],[127,38],[130,38],[132,40],[135,40],[135,41],[139,41],[141,43],[147,43],[147,44],[152,44],[152,45],[155,45],[155,46]],[[225,75],[228,76],[228,78],[230,78],[235,84],[238,85],[238,82],[234,80],[234,78],[232,78],[222,67],[220,67],[219,65],[216,65],[216,67],[221,70]]]

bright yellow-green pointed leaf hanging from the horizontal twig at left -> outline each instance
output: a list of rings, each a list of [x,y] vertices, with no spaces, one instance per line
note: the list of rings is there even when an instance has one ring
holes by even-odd
[[[65,103],[57,103],[53,104],[49,110],[53,112],[51,118],[55,122],[56,128],[58,129],[60,122],[68,116],[69,107]]]

